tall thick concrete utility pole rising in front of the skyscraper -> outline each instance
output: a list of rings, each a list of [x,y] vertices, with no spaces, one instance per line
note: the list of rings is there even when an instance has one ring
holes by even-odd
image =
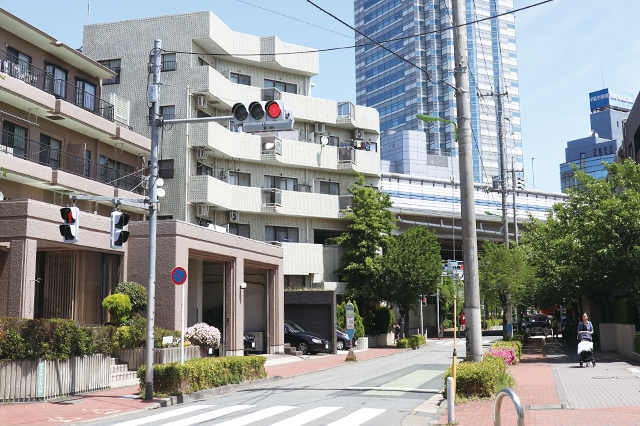
[[[473,173],[473,139],[471,134],[471,98],[469,94],[469,55],[465,3],[452,1],[453,46],[455,54],[458,140],[460,142],[460,204],[464,260],[464,305],[467,321],[467,359],[482,361],[480,322],[480,284],[478,281],[478,238]],[[455,342],[455,340],[454,340]],[[454,350],[454,356],[457,356]]]

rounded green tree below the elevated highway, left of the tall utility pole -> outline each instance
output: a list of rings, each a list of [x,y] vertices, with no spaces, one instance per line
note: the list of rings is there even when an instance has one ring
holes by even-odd
[[[396,305],[409,331],[409,311],[424,295],[435,294],[442,275],[440,244],[434,231],[423,226],[408,229],[390,244],[380,274],[380,296]]]

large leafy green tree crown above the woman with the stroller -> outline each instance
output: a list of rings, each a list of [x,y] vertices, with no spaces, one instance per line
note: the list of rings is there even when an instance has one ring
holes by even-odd
[[[605,166],[607,180],[576,170],[579,185],[546,221],[527,225],[524,242],[541,278],[541,300],[566,305],[585,295],[610,321],[616,292],[640,306],[640,166]]]

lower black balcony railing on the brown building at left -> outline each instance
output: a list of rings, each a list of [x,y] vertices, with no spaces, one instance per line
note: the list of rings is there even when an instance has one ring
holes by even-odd
[[[144,176],[141,174],[130,174],[123,170],[116,170],[6,130],[2,130],[0,151],[32,163],[51,167],[53,170],[84,176],[87,179],[104,182],[107,185],[136,194],[144,193],[142,185]]]

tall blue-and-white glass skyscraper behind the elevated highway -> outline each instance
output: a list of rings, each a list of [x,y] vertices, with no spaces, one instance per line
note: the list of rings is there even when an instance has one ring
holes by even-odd
[[[466,4],[467,22],[513,9],[512,0],[461,1]],[[385,149],[384,131],[389,129],[423,131],[428,152],[455,155],[452,125],[416,118],[416,114],[456,118],[451,0],[355,0],[355,24],[359,31],[426,71],[357,36],[356,44],[361,47],[356,48],[356,102],[380,113],[382,158],[406,161],[392,158]],[[507,168],[513,159],[516,170],[522,170],[515,21],[509,14],[470,24],[466,31],[474,178],[490,184],[492,176],[500,174],[497,102],[492,94],[508,92],[502,98]]]

